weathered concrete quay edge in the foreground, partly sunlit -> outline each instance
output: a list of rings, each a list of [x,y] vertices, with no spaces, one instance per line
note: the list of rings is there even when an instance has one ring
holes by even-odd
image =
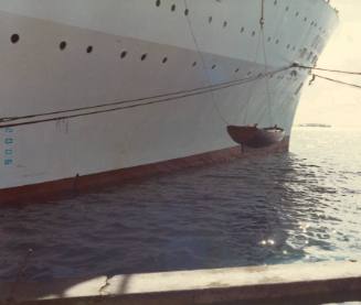
[[[0,305],[321,304],[361,301],[361,263],[332,262],[2,283]]]

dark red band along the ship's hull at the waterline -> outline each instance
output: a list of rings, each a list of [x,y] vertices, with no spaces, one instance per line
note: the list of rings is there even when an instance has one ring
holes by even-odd
[[[112,185],[121,185],[127,182],[170,173],[180,168],[229,162],[242,157],[267,155],[274,152],[286,152],[288,151],[288,144],[289,139],[287,138],[283,142],[262,150],[247,149],[242,152],[241,146],[235,146],[131,168],[0,189],[0,204],[30,204],[33,201],[73,197],[81,193],[100,190]]]

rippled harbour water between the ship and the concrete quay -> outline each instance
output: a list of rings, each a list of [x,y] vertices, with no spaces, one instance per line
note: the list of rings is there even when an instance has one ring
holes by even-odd
[[[61,203],[0,208],[0,280],[361,259],[361,130]]]

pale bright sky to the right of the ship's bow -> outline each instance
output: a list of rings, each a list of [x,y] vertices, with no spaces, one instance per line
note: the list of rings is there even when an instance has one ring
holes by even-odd
[[[361,72],[361,0],[331,0],[340,24],[327,45],[318,67]],[[318,73],[361,85],[361,76]],[[306,85],[296,116],[299,123],[361,127],[361,89],[317,79]]]

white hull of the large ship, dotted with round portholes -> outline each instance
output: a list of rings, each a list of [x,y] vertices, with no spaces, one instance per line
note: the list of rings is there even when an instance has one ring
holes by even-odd
[[[2,198],[226,150],[227,124],[290,134],[333,9],[265,0],[263,35],[261,0],[156,2],[0,0]]]

